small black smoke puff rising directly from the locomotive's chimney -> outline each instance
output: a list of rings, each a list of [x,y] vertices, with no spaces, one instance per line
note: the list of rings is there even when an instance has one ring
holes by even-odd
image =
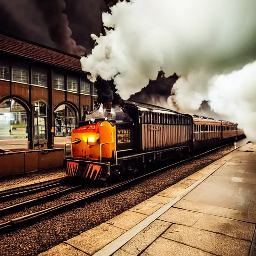
[[[100,77],[97,77],[95,82],[98,91],[98,103],[112,103],[113,105],[120,105],[122,99],[117,93],[113,80],[105,81]]]

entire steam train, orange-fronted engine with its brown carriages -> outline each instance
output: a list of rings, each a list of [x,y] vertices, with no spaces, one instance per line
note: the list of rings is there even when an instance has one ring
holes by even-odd
[[[65,171],[70,177],[106,181],[235,142],[238,135],[243,131],[228,121],[134,101],[124,101],[122,106],[101,104],[73,130]]]

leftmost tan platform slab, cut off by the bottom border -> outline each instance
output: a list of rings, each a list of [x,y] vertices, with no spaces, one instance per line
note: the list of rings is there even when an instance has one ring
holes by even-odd
[[[52,249],[40,253],[39,256],[88,256],[88,254],[81,252],[80,250],[75,249],[74,247],[66,244],[60,243]]]

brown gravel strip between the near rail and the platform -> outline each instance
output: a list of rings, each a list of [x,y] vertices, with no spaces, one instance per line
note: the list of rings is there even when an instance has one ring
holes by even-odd
[[[46,251],[134,207],[224,156],[232,149],[233,146],[227,146],[210,155],[148,177],[125,191],[56,214],[21,230],[1,235],[0,255],[32,256]]]

